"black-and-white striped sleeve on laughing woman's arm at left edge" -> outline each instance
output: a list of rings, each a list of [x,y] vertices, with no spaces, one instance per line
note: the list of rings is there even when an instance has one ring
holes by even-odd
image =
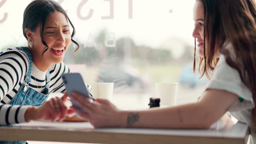
[[[18,85],[28,69],[28,58],[19,51],[7,51],[0,56],[0,100]],[[30,106],[0,103],[0,125],[24,123]]]

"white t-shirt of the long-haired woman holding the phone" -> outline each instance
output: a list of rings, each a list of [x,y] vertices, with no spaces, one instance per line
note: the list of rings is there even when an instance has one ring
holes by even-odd
[[[232,45],[228,44],[225,48],[232,50]],[[232,51],[230,51],[230,55],[234,59]],[[228,111],[238,121],[252,127],[251,111],[254,107],[252,92],[242,82],[238,71],[226,63],[224,55],[220,55],[219,62],[214,68],[212,79],[207,83],[206,89],[220,89],[238,95],[239,98],[236,103]]]

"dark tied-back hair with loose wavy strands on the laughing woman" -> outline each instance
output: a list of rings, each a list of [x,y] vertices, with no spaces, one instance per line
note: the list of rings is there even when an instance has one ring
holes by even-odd
[[[45,43],[45,41],[43,39],[44,25],[45,25],[47,17],[50,14],[54,13],[54,11],[59,11],[60,13],[65,15],[68,22],[72,26],[73,32],[71,35],[71,41],[75,45],[77,45],[77,49],[75,49],[75,51],[77,51],[79,49],[79,44],[77,43],[77,41],[73,40],[73,37],[75,34],[75,28],[74,28],[71,20],[67,16],[67,13],[61,7],[61,5],[52,0],[35,0],[27,5],[27,8],[24,11],[23,25],[22,25],[24,37],[27,39],[27,35],[25,33],[26,28],[29,29],[30,31],[34,32],[35,29],[37,28],[37,26],[40,26],[40,35],[41,35],[42,43],[45,45],[45,47],[43,49],[43,54],[44,54],[44,52],[49,49],[49,46]]]

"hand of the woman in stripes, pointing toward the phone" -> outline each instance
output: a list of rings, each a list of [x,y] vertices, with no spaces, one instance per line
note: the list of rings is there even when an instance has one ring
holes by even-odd
[[[42,106],[29,107],[25,112],[26,122],[34,121],[63,121],[67,116],[67,107],[64,104],[67,95],[64,94],[62,98],[51,98]]]

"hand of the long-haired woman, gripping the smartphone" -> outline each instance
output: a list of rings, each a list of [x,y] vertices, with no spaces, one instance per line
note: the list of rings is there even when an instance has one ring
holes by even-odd
[[[122,116],[121,111],[110,103],[109,100],[91,100],[77,92],[72,93],[71,98],[79,104],[84,111],[75,106],[71,108],[80,116],[88,119],[95,128],[122,127],[123,122],[125,122],[125,116]]]

